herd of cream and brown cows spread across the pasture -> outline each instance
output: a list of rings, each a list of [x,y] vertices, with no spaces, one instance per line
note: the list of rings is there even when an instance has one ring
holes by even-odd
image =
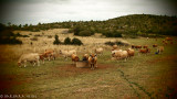
[[[173,38],[170,37],[166,37],[163,41],[163,44],[167,44],[168,42],[173,42]],[[157,51],[155,52],[155,54],[162,54],[164,52],[164,46],[158,46],[157,44],[153,44],[152,45],[153,48],[156,48]],[[139,54],[148,54],[150,53],[150,48],[148,45],[132,45],[127,50],[121,50],[117,45],[113,45],[112,46],[112,51],[111,51],[111,56],[112,59],[125,59],[125,62],[133,57],[135,55],[135,52],[138,52]],[[42,62],[42,64],[44,64],[44,59],[51,61],[51,59],[55,59],[56,58],[56,54],[62,55],[65,61],[71,58],[71,61],[75,64],[79,61],[87,61],[88,65],[91,67],[91,69],[94,69],[95,67],[97,67],[97,55],[103,56],[103,52],[104,48],[103,47],[97,47],[94,50],[94,54],[83,54],[82,59],[80,59],[80,57],[77,56],[77,52],[75,50],[71,50],[71,51],[64,51],[64,50],[60,50],[59,52],[54,51],[54,50],[45,50],[44,53],[29,53],[29,54],[23,54],[21,55],[21,57],[18,61],[18,65],[19,67],[21,67],[21,65],[23,64],[24,67],[27,66],[27,62],[33,64],[33,66],[35,66],[35,64],[38,64],[38,66],[40,66],[40,62]]]

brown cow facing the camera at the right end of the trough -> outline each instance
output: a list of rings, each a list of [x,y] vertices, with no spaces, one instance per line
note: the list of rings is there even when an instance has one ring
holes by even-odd
[[[88,57],[88,64],[91,66],[91,69],[94,69],[95,67],[97,67],[97,56],[96,54],[91,54]]]

